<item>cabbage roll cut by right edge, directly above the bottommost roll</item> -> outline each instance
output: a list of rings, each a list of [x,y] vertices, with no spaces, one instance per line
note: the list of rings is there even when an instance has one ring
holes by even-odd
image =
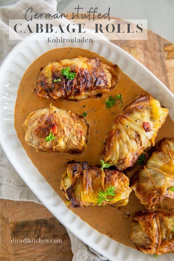
[[[174,139],[165,138],[156,148],[131,185],[147,209],[165,198],[174,199]]]

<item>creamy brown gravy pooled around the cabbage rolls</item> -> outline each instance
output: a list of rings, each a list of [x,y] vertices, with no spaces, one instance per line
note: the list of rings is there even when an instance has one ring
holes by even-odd
[[[71,59],[78,57],[79,55],[88,58],[95,58],[98,56],[98,54],[91,51],[79,48],[53,49],[41,55],[24,73],[19,85],[15,105],[15,129],[22,146],[26,150],[27,155],[33,164],[64,201],[65,197],[60,190],[60,184],[61,176],[66,168],[67,161],[74,159],[75,161],[88,161],[90,165],[99,164],[106,136],[112,128],[114,119],[123,110],[123,107],[120,106],[125,106],[130,103],[137,95],[139,95],[140,92],[143,91],[139,85],[121,72],[117,87],[111,92],[104,94],[101,98],[89,98],[78,102],[57,99],[55,102],[52,102],[57,107],[65,110],[72,110],[79,115],[82,115],[83,112],[87,112],[86,120],[89,123],[87,149],[77,155],[62,152],[37,153],[31,146],[25,143],[25,132],[22,129],[22,124],[30,112],[50,105],[50,100],[38,98],[34,95],[34,88],[36,87],[39,70],[40,68],[44,68],[49,62],[53,62],[56,59]],[[106,61],[103,57],[100,58],[101,60]],[[111,109],[105,109],[104,101],[107,100],[110,95],[115,96],[118,93],[122,94],[124,103],[121,104],[117,101]],[[84,105],[85,108],[83,107]],[[168,116],[165,124],[158,133],[156,141],[164,137],[174,138],[173,129],[174,122]],[[163,202],[163,206],[171,208],[174,207],[174,203],[172,203],[172,200],[166,200]],[[129,218],[123,217],[121,211],[118,210],[117,207],[113,208],[111,205],[71,210],[100,233],[106,234],[110,238],[121,242],[124,245],[134,247],[128,239],[129,224],[135,213],[142,209],[144,209],[144,207],[138,202],[134,193],[131,192],[128,205],[121,207],[121,210],[129,211]]]

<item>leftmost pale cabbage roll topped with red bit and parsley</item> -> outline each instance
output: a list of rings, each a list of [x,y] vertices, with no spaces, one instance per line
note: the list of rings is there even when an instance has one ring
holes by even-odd
[[[73,111],[51,104],[50,107],[31,112],[22,127],[26,143],[37,152],[81,152],[86,147],[86,120]]]

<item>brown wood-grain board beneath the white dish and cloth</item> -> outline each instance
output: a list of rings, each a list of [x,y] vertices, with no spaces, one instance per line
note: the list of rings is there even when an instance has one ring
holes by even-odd
[[[174,93],[174,44],[148,31],[148,40],[112,41],[145,65]],[[12,243],[11,239],[61,239],[62,243]],[[72,260],[64,226],[43,206],[1,199],[1,261]]]

